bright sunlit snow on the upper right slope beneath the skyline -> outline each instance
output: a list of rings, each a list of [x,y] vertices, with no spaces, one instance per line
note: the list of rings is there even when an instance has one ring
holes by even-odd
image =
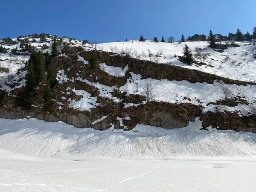
[[[221,42],[225,44],[226,42]],[[231,43],[231,42],[227,42]],[[174,57],[175,55],[183,55],[183,47],[185,44],[194,51],[196,47],[203,49],[203,52],[207,52],[210,56],[205,61],[206,64],[210,64],[214,67],[209,66],[198,66],[183,64]],[[229,47],[225,49],[223,53],[216,52],[212,48],[208,47],[207,41],[193,41],[193,42],[178,42],[167,43],[159,42],[154,43],[152,41],[128,41],[128,42],[113,42],[99,44],[98,47],[104,47],[109,52],[120,52],[121,49],[127,50],[129,55],[134,58],[142,60],[155,61],[162,64],[178,65],[181,67],[200,70],[206,73],[223,76],[229,79],[240,80],[240,81],[252,81],[256,79],[256,71],[254,70],[256,65],[256,59],[253,58],[253,53],[256,52],[256,46],[251,42],[236,42],[240,47]],[[113,49],[113,50],[112,50]],[[149,57],[148,49],[153,54]],[[205,49],[205,50],[204,50]],[[160,55],[160,52],[163,54]],[[194,53],[194,52],[193,52]],[[161,57],[155,57],[154,55],[160,55]],[[225,61],[226,56],[229,56],[229,60]],[[212,60],[213,59],[213,60]],[[222,62],[223,63],[222,63]]]

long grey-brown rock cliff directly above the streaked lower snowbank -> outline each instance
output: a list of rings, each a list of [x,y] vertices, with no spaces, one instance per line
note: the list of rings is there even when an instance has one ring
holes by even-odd
[[[97,130],[105,130],[112,125],[115,128],[124,128],[120,126],[117,117],[129,117],[130,120],[124,120],[125,130],[131,130],[137,124],[151,125],[162,128],[182,128],[189,124],[189,121],[195,120],[195,114],[189,113],[189,108],[200,108],[196,105],[187,104],[186,108],[181,105],[164,103],[164,102],[149,102],[146,105],[139,105],[131,108],[119,108],[114,110],[109,109],[109,116],[106,119],[92,125],[96,119],[100,119],[106,115],[103,113],[102,106],[97,107],[90,113],[79,110],[62,110],[53,111],[52,113],[44,112],[41,108],[31,108],[24,110],[23,108],[12,105],[14,101],[6,103],[0,107],[0,118],[6,119],[22,119],[29,116],[30,118],[42,119],[49,122],[63,121],[77,128],[92,127]],[[189,107],[188,107],[189,106]],[[106,109],[105,109],[106,110]],[[107,111],[108,112],[108,111]]]

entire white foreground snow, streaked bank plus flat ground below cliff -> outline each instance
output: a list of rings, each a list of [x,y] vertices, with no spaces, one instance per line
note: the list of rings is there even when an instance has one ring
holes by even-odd
[[[0,191],[249,192],[256,186],[256,134],[199,131],[199,120],[172,130],[96,131],[38,119],[0,119],[0,125]]]

